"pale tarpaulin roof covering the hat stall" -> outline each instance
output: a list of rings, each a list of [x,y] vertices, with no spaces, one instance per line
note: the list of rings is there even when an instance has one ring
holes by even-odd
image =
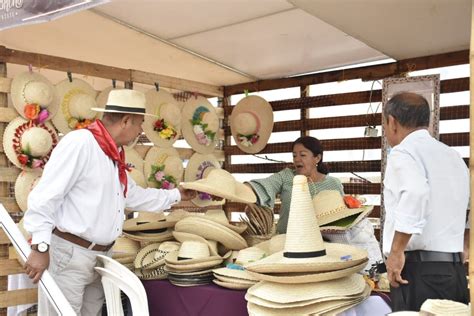
[[[222,86],[468,49],[470,15],[469,0],[115,0],[0,44]]]

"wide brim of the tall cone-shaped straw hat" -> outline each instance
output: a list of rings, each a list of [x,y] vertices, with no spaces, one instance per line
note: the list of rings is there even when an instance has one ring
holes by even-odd
[[[367,251],[346,244],[324,243],[326,255],[312,258],[286,258],[284,251],[245,265],[258,273],[329,272],[347,269],[367,260]],[[349,257],[350,260],[345,260]]]

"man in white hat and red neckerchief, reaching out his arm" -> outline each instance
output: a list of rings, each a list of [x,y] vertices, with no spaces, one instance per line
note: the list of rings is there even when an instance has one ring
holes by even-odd
[[[30,193],[25,228],[32,234],[26,273],[38,282],[48,269],[78,315],[99,315],[104,301],[96,256],[111,254],[125,208],[158,212],[195,192],[143,189],[128,175],[124,145],[142,133],[145,95],[110,92],[102,121],[68,133]],[[55,314],[41,295],[39,315]]]

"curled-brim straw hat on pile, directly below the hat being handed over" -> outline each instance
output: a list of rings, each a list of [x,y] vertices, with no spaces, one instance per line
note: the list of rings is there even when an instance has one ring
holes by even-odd
[[[205,218],[205,216],[186,217],[176,223],[175,230],[215,240],[229,250],[247,248],[247,242],[242,236],[224,225]]]

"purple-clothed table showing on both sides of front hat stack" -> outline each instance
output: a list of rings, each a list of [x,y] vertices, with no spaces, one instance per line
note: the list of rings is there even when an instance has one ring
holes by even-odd
[[[215,284],[180,287],[168,280],[143,281],[143,285],[150,316],[248,315],[245,290],[229,290]],[[391,309],[384,299],[383,295],[373,293],[368,300],[343,315],[386,315]]]

